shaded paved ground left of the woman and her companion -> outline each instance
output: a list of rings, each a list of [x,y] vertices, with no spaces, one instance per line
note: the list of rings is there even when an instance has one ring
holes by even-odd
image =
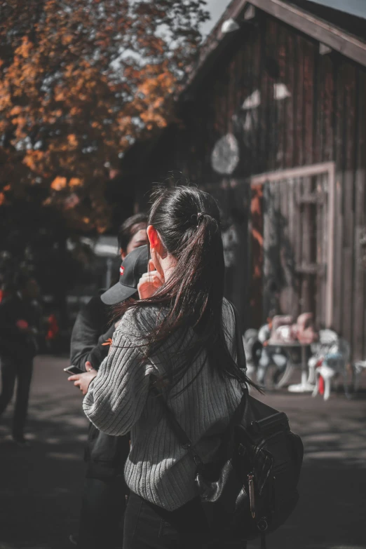
[[[29,448],[17,447],[8,435],[12,409],[1,418],[1,549],[72,547],[68,536],[77,531],[88,421],[80,393],[62,371],[65,365],[49,357],[36,360]]]

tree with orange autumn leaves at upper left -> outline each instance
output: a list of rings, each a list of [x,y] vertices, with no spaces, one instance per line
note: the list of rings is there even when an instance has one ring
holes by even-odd
[[[78,230],[107,228],[109,172],[170,120],[204,6],[0,1],[0,217],[33,200]]]

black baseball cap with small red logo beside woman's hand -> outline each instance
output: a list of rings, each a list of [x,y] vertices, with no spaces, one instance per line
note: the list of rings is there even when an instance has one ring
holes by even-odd
[[[137,292],[137,284],[144,273],[147,273],[149,252],[147,245],[136,248],[128,255],[119,269],[119,282],[110,287],[107,292],[100,296],[106,305],[116,305]]]

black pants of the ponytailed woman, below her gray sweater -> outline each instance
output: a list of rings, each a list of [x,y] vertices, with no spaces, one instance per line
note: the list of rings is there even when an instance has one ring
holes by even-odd
[[[123,530],[123,549],[225,549],[207,545],[208,524],[198,499],[169,513],[130,493]],[[245,549],[246,544],[227,545]]]

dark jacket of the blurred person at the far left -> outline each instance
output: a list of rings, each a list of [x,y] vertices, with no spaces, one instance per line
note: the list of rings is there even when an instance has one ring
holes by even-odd
[[[27,330],[17,326],[19,320],[27,322]],[[0,303],[0,356],[15,359],[33,358],[38,349],[41,313],[35,303],[12,294]]]

